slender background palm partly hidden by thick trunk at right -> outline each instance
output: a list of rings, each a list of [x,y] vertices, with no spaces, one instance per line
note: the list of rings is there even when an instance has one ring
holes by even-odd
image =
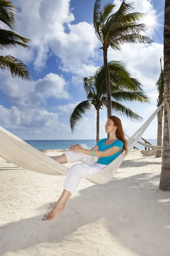
[[[160,58],[161,62],[162,58]],[[158,96],[158,105],[159,107],[163,100],[164,100],[164,71],[162,70],[162,64],[161,64],[161,74],[159,76],[158,81],[156,82],[156,87],[159,93]],[[158,130],[157,130],[157,146],[162,145],[162,119],[163,119],[163,113],[164,113],[164,106],[161,108],[159,113],[157,114],[157,119],[158,119]],[[162,156],[162,150],[157,149],[156,150],[156,157],[161,157]]]

